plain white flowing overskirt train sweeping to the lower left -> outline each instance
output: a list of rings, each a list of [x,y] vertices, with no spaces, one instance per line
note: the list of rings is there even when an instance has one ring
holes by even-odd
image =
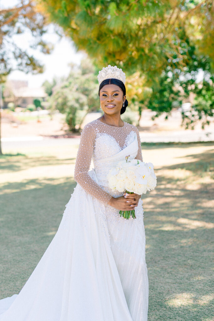
[[[133,321],[111,251],[105,206],[80,185],[55,237],[1,321]],[[6,302],[7,301],[7,302]]]

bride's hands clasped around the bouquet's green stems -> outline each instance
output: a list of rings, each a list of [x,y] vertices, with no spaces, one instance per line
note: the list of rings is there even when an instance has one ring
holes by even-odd
[[[125,193],[124,193],[125,195]],[[138,194],[128,194],[126,197],[113,197],[108,201],[108,204],[115,207],[117,210],[121,211],[131,211],[133,210],[139,202],[141,195]]]

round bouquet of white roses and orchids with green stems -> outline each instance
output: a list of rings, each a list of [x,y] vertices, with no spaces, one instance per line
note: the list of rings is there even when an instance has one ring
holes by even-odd
[[[147,191],[153,190],[157,185],[157,177],[154,173],[152,163],[145,163],[141,160],[129,160],[130,155],[125,160],[120,161],[116,167],[110,169],[107,180],[108,187],[118,192],[128,194],[146,194]],[[120,216],[129,219],[132,215],[136,218],[135,211],[120,211]]]

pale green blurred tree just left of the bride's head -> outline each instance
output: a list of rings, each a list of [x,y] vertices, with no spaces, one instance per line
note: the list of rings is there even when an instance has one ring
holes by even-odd
[[[66,115],[69,130],[78,132],[87,113],[98,104],[97,77],[90,60],[83,59],[80,67],[71,64],[69,76],[53,88],[48,101],[52,109]]]

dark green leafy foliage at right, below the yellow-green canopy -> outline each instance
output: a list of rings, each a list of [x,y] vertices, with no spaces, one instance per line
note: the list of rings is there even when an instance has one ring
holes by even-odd
[[[188,99],[192,93],[194,103],[191,111],[182,112],[182,124],[185,128],[194,128],[194,124],[201,122],[201,127],[210,124],[213,117],[213,98],[214,86],[211,68],[211,59],[208,55],[200,55],[197,53],[195,46],[190,42],[185,30],[180,28],[180,39],[185,38],[185,46],[183,43],[184,55],[183,61],[185,67],[183,70],[171,68],[168,66],[161,74],[158,86],[152,86],[152,93],[149,100],[141,101],[147,108],[156,111],[154,117],[158,117],[163,112],[166,113],[166,119],[173,107],[179,107],[184,100]],[[186,54],[187,53],[187,54]],[[186,57],[191,57],[187,59]],[[176,56],[174,59],[176,60]],[[198,71],[203,70],[204,79],[198,83]]]

